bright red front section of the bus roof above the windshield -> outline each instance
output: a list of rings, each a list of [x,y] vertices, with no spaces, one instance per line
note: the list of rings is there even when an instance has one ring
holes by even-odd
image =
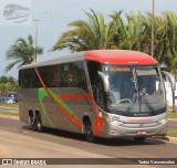
[[[157,64],[157,61],[145,53],[126,50],[86,51],[85,60],[108,64]]]

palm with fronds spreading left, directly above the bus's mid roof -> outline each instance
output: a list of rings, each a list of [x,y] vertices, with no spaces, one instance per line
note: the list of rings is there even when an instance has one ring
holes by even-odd
[[[73,27],[62,34],[54,44],[53,50],[69,49],[72,52],[110,49],[114,34],[113,24],[105,23],[102,13],[85,12],[88,21],[76,20],[69,25]]]

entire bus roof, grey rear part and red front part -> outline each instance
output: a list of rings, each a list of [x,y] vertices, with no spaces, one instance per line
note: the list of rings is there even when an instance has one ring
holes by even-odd
[[[118,64],[118,65],[154,65],[157,61],[145,53],[137,51],[126,51],[126,50],[93,50],[83,51],[77,53],[71,53],[69,55],[59,56],[56,59],[51,59],[41,63],[33,63],[23,65],[20,69],[28,69],[33,66],[44,66],[60,63],[69,63],[75,61],[96,61],[103,64]]]

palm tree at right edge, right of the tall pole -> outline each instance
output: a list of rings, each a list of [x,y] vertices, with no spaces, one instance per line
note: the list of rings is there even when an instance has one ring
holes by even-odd
[[[158,19],[155,56],[176,74],[177,66],[177,14],[166,11]]]

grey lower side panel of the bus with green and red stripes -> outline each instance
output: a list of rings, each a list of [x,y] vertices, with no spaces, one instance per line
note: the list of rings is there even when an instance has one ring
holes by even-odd
[[[44,88],[19,90],[21,122],[29,123],[29,111],[34,114],[38,111],[43,126],[82,133],[83,116],[87,115],[94,120],[93,107],[83,90],[66,87],[49,88],[49,91],[52,97]]]

